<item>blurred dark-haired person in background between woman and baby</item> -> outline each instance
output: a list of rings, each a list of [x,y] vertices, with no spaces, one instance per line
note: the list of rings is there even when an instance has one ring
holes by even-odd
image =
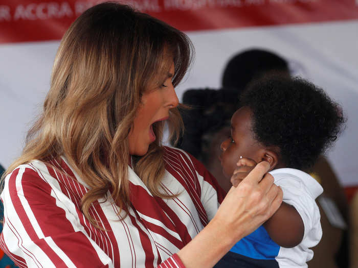
[[[183,104],[190,108],[180,110],[185,131],[176,147],[202,161],[225,191],[231,183],[221,178],[218,156],[221,141],[230,135],[230,120],[238,103],[236,89],[188,89],[184,92]]]

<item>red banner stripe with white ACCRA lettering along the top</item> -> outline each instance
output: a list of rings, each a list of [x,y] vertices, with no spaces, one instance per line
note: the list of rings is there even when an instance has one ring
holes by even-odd
[[[102,1],[5,0],[0,43],[61,39],[87,8]],[[128,0],[121,1],[182,31],[358,19],[356,0]]]

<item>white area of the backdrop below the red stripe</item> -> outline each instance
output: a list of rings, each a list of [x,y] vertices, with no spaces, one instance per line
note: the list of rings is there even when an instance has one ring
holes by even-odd
[[[1,31],[1,28],[0,28]],[[0,32],[1,33],[1,32]],[[294,71],[324,88],[348,117],[347,128],[328,159],[344,186],[358,185],[358,20],[187,32],[196,50],[184,90],[220,87],[227,60],[257,47],[277,52]],[[24,146],[41,110],[59,41],[0,44],[0,163],[8,166]]]

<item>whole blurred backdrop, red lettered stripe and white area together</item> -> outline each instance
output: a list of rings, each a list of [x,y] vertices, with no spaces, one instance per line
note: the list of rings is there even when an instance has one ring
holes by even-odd
[[[101,2],[0,0],[0,164],[5,168],[19,156],[41,111],[63,33]],[[358,186],[358,0],[120,2],[166,21],[192,40],[195,61],[176,89],[180,99],[189,88],[219,89],[227,62],[252,48],[279,55],[292,75],[322,87],[348,118],[326,159],[350,202]]]

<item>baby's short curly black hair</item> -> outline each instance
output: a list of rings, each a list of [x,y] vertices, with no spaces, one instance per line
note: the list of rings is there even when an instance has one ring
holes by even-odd
[[[301,78],[264,77],[240,97],[252,111],[253,133],[265,146],[280,148],[286,167],[307,169],[343,130],[341,107]]]

